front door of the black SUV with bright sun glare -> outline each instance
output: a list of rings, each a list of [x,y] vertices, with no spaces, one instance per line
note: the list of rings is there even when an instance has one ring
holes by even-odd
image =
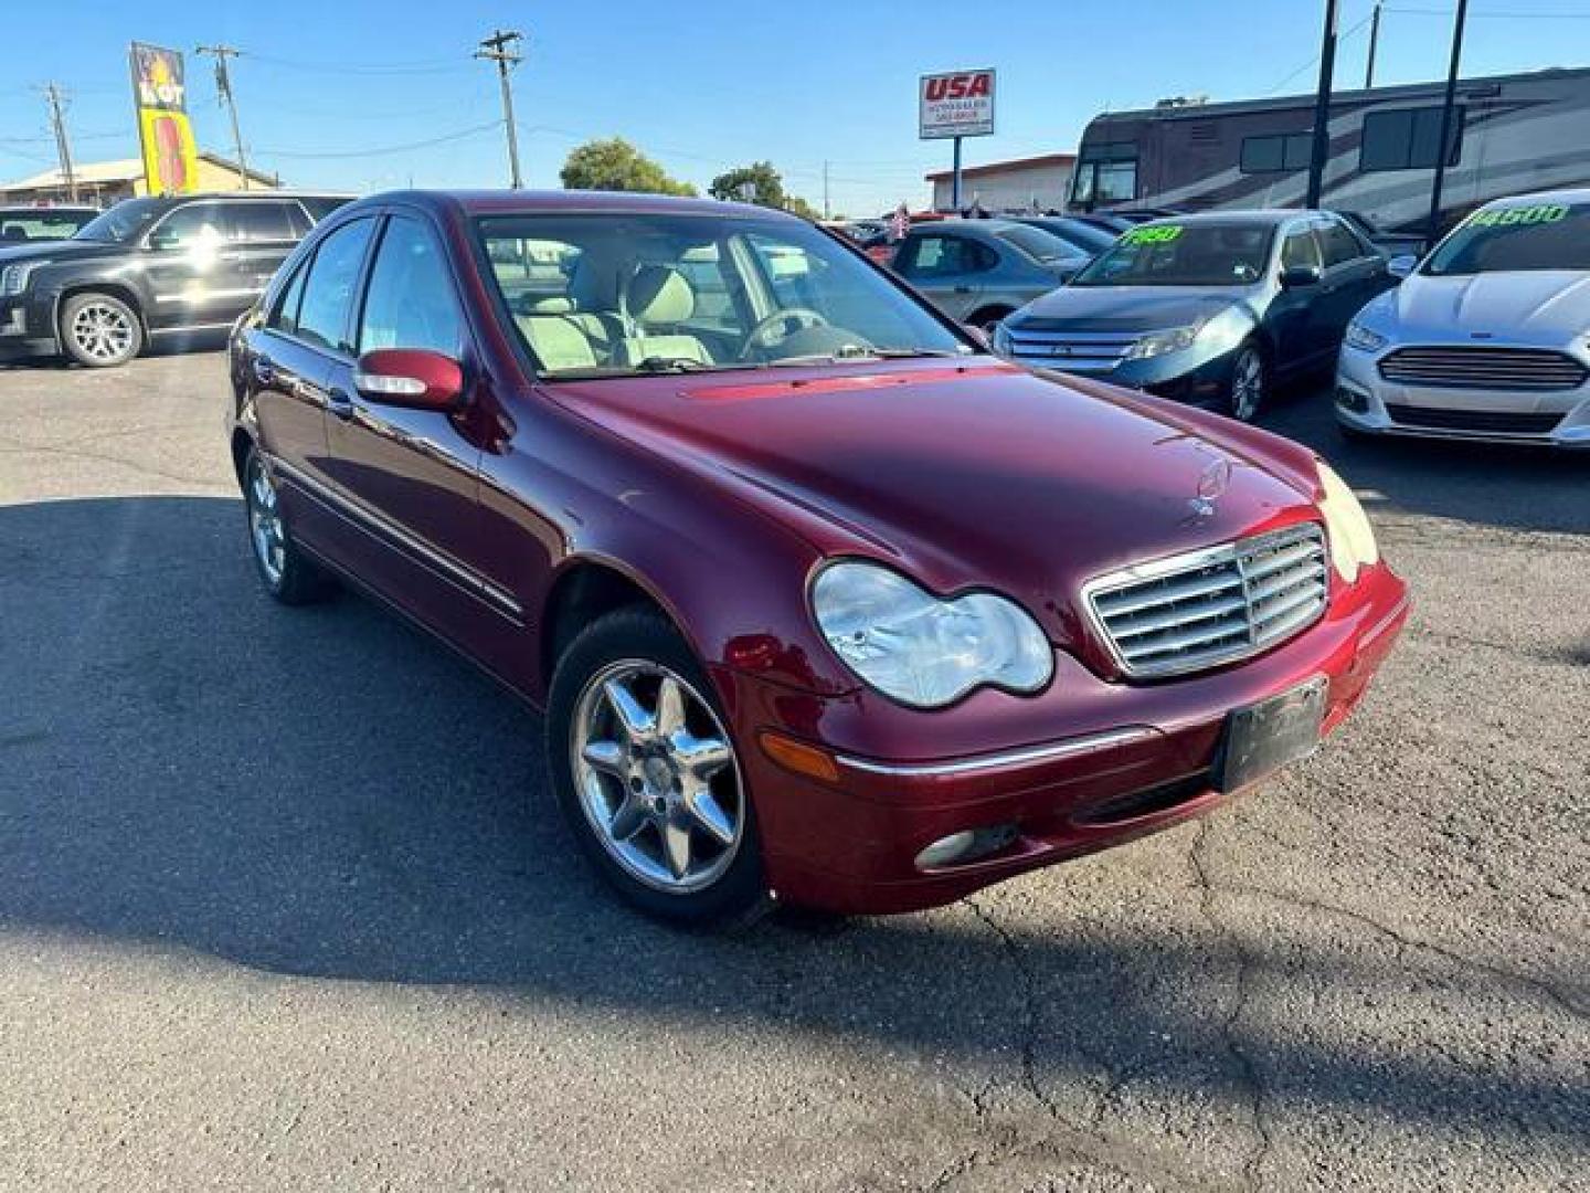
[[[167,213],[145,237],[142,264],[151,331],[224,326],[259,296],[231,239],[227,204],[219,200]]]

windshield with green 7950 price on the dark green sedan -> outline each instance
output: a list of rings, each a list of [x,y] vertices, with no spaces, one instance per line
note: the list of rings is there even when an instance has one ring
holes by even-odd
[[[1251,286],[1270,259],[1272,224],[1150,223],[1072,278],[1073,286]]]

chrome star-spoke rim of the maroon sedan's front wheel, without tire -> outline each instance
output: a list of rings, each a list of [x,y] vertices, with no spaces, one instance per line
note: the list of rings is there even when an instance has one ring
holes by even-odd
[[[746,797],[728,732],[688,681],[625,659],[585,684],[569,725],[580,810],[628,873],[700,891],[735,861]]]

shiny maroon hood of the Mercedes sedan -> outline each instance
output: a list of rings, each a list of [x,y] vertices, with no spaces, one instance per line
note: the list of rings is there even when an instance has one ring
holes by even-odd
[[[1073,598],[1092,576],[1310,515],[1304,449],[1088,388],[999,363],[924,361],[550,391],[822,555],[874,555],[938,592],[995,587],[1061,635],[1075,635]],[[1194,512],[1200,485],[1213,514]]]

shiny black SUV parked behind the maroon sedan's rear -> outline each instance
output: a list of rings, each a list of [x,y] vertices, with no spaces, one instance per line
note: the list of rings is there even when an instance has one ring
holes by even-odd
[[[70,240],[0,247],[0,361],[110,367],[151,337],[227,328],[347,196],[127,199]]]

